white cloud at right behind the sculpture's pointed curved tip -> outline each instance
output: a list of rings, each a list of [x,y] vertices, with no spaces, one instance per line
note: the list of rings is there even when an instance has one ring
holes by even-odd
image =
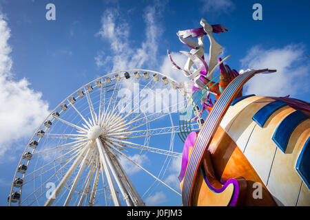
[[[258,96],[298,96],[309,91],[310,66],[300,60],[304,54],[301,45],[264,50],[252,47],[242,58],[242,69],[277,69],[273,74],[258,74],[245,86],[245,94]]]

